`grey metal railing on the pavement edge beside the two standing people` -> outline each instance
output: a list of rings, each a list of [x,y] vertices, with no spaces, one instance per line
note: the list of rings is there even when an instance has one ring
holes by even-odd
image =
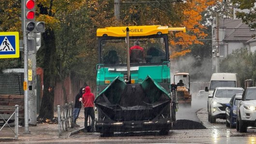
[[[73,128],[73,102],[64,106],[57,106],[58,113],[58,134],[61,136],[63,131],[68,131],[68,128]]]

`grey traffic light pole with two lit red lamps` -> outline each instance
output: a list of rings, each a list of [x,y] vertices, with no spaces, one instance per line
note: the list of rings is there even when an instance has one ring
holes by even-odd
[[[28,131],[28,124],[36,125],[36,81],[33,75],[36,74],[36,45],[31,44],[35,41],[35,33],[43,33],[45,30],[44,22],[35,21],[36,2],[35,0],[21,0],[22,9],[22,30],[24,41],[24,124],[25,132]],[[28,55],[29,54],[29,55]],[[30,58],[28,60],[28,58]],[[33,61],[33,62],[32,62]],[[33,64],[33,66],[32,66]],[[29,81],[29,82],[28,82]],[[28,88],[29,87],[29,88]],[[29,90],[29,91],[28,91]],[[28,123],[29,122],[29,123]]]

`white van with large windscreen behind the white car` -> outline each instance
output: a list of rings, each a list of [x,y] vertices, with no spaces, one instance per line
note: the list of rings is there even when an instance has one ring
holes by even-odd
[[[205,87],[208,95],[213,95],[216,87],[240,87],[240,80],[237,73],[213,73],[209,89]]]

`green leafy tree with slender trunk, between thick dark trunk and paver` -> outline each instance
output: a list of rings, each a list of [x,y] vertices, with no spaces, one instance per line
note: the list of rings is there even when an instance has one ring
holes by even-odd
[[[87,11],[85,6],[81,6],[76,11],[56,14],[61,27],[56,30],[57,81],[62,84],[65,103],[68,102],[64,86],[67,76],[72,74],[72,77],[79,77],[89,84],[96,77],[96,72],[93,71],[97,60],[96,38],[90,40],[95,33],[91,33],[92,23]]]

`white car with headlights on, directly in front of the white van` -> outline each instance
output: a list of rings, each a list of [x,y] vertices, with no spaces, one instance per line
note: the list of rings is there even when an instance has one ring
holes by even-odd
[[[229,103],[232,96],[242,92],[242,87],[216,87],[213,91],[213,95],[208,96],[208,121],[215,123],[216,119],[225,120],[226,104]]]

